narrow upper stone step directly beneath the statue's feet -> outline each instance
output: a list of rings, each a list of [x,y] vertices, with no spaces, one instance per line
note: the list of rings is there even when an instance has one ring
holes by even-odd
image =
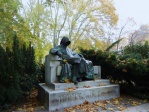
[[[65,90],[67,88],[73,88],[73,87],[83,88],[84,86],[94,87],[94,86],[109,85],[109,84],[110,84],[110,81],[107,79],[98,79],[98,80],[92,80],[92,81],[82,81],[82,82],[79,82],[77,85],[75,85],[74,83],[51,83],[48,86],[53,90]]]

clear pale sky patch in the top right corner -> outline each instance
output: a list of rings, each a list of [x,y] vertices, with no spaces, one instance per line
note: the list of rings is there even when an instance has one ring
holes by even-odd
[[[119,20],[133,18],[137,26],[149,24],[149,0],[113,0]]]

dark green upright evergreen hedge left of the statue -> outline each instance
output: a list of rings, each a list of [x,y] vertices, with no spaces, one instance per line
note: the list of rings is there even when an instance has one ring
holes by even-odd
[[[0,110],[21,100],[42,79],[40,69],[31,44],[20,45],[15,35],[12,49],[0,45]]]

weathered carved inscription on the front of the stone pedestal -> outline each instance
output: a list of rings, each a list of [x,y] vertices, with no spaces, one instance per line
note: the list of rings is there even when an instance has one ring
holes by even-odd
[[[102,91],[101,91],[102,89]],[[116,88],[110,89],[110,88],[94,88],[94,89],[84,89],[82,90],[75,90],[71,92],[63,92],[61,94],[51,94],[51,106],[60,105],[62,103],[69,103],[69,102],[75,102],[79,100],[88,100],[91,99],[99,99],[100,98],[106,98],[106,97],[113,97],[117,93]],[[117,94],[116,94],[117,95]]]

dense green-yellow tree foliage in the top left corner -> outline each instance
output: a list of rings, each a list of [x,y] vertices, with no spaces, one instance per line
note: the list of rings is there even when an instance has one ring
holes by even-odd
[[[31,41],[32,34],[19,15],[21,4],[19,0],[1,0],[0,2],[0,43],[6,48],[12,48],[14,31],[17,32],[20,44]]]

